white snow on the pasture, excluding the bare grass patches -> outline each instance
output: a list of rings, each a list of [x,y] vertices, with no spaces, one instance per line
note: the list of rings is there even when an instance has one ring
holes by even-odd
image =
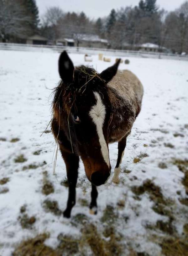
[[[50,93],[59,81],[59,54],[0,51],[0,56],[0,138],[6,139],[0,140],[0,174],[1,178],[9,178],[6,184],[0,185],[0,189],[9,189],[7,193],[0,193],[0,255],[8,256],[17,243],[28,237],[50,232],[46,244],[55,247],[58,234],[63,232],[79,235],[80,229],[71,225],[71,219],[46,213],[42,207],[43,201],[48,198],[57,201],[59,208],[64,210],[68,195],[68,189],[60,185],[60,181],[66,176],[60,152],[56,163],[56,176],[53,175],[53,135],[44,133],[40,136],[50,121]],[[70,54],[70,57],[75,65],[88,64],[84,62],[84,54]],[[117,58],[107,57],[111,58],[112,64]],[[99,61],[97,55],[93,55],[92,59],[93,62],[89,64],[99,72],[109,66],[109,63]],[[161,248],[149,239],[151,231],[146,229],[146,224],[155,224],[157,220],[167,220],[168,217],[152,210],[153,202],[147,193],[141,196],[141,201],[136,200],[131,187],[142,185],[146,179],[151,179],[155,185],[160,186],[164,197],[175,202],[177,218],[173,224],[177,232],[182,233],[183,225],[187,221],[187,206],[180,204],[180,196],[176,191],[180,191],[181,196],[185,198],[185,187],[181,183],[184,174],[172,164],[172,158],[187,158],[188,130],[185,125],[188,123],[188,63],[133,57],[129,60],[129,65],[120,64],[119,68],[128,68],[138,76],[144,86],[144,98],[141,113],[128,137],[121,164],[121,182],[118,185],[113,184],[111,176],[107,184],[98,187],[98,213],[96,216],[90,215],[88,207],[81,206],[79,201],[87,199],[90,202],[91,192],[90,182],[86,179],[81,163],[76,188],[77,203],[71,216],[86,214],[90,221],[100,228],[100,219],[106,206],[116,207],[117,202],[123,199],[125,207],[116,210],[119,221],[122,216],[127,216],[128,219],[127,222],[118,222],[116,229],[123,234],[124,242],[136,251],[145,251],[155,256],[160,254]],[[47,129],[50,130],[50,127]],[[184,137],[174,137],[174,133],[183,134]],[[19,141],[12,143],[12,138],[19,138]],[[171,143],[175,147],[165,147],[164,143]],[[144,144],[148,147],[144,147]],[[40,154],[34,155],[37,150],[41,150]],[[113,172],[118,153],[117,143],[109,145],[109,151]],[[134,157],[140,153],[147,153],[149,157],[134,164]],[[15,163],[14,159],[20,154],[24,154],[27,161]],[[23,166],[34,163],[42,165],[44,161],[47,164],[37,169],[22,170]],[[159,168],[160,162],[165,162],[167,168]],[[125,168],[131,172],[123,173]],[[55,190],[48,196],[41,192],[44,171],[47,172],[47,178]],[[23,229],[18,220],[20,207],[24,204],[27,205],[28,215],[36,218],[32,229]]]

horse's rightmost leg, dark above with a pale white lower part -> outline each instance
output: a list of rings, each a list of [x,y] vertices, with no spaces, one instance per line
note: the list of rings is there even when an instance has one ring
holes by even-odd
[[[113,178],[112,178],[112,181],[114,183],[119,183],[119,174],[120,174],[120,171],[121,171],[120,164],[121,164],[122,159],[123,159],[124,150],[125,150],[125,147],[126,147],[126,142],[127,142],[127,136],[128,135],[129,135],[129,133],[118,142],[118,159],[117,159],[116,167],[114,169],[114,175],[113,175]]]

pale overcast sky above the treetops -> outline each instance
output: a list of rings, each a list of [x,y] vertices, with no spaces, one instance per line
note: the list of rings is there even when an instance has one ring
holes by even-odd
[[[110,11],[120,7],[138,5],[139,0],[36,0],[40,17],[44,14],[47,7],[59,6],[65,12],[83,11],[90,18],[107,16]],[[172,11],[178,8],[185,0],[157,0],[160,8]]]

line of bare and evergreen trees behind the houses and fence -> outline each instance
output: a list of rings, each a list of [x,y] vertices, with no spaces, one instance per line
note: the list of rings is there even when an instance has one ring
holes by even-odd
[[[40,34],[55,41],[74,38],[79,44],[84,34],[107,39],[109,47],[135,49],[150,42],[174,53],[188,53],[188,1],[167,12],[156,0],[140,0],[137,6],[112,9],[107,17],[90,19],[84,12],[64,12],[48,8],[39,23],[35,0],[0,0],[0,37],[4,42]]]

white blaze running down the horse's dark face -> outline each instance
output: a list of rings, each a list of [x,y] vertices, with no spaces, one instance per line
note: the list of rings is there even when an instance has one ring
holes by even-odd
[[[102,103],[102,99],[99,93],[98,92],[93,92],[93,93],[95,95],[97,103],[91,108],[89,115],[93,120],[93,123],[97,127],[97,135],[99,137],[99,143],[101,145],[101,152],[102,152],[104,161],[106,162],[107,166],[110,167],[108,147],[102,131],[102,127],[103,127],[105,115],[106,115],[106,109],[104,104]]]

